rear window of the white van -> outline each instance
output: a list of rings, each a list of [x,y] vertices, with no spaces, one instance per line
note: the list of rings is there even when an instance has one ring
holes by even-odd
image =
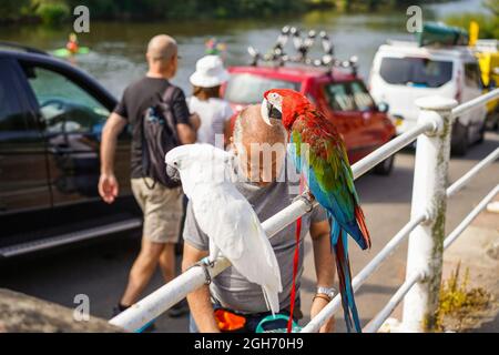
[[[452,79],[452,62],[426,58],[383,58],[379,75],[390,83],[439,88]]]

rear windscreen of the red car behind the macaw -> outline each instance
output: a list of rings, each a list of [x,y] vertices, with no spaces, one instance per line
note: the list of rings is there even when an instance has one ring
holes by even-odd
[[[265,91],[271,89],[293,89],[299,91],[299,83],[286,80],[269,79],[249,73],[232,74],[225,89],[225,100],[235,103],[251,104],[262,102]]]

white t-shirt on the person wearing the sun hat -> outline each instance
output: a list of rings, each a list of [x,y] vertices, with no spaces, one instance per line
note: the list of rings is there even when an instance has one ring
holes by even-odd
[[[225,122],[234,114],[227,101],[211,98],[201,101],[196,97],[187,99],[189,111],[197,113],[201,126],[197,130],[197,143],[215,145],[215,134],[224,134]]]

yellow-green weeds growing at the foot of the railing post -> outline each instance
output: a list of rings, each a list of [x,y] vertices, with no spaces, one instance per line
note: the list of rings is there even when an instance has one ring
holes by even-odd
[[[462,281],[460,281],[459,271],[460,263],[440,287],[440,303],[436,314],[437,331],[444,331],[444,324],[448,318],[456,321],[457,327],[461,328],[468,316],[486,308],[491,301],[491,296],[486,290],[468,288],[468,268]]]

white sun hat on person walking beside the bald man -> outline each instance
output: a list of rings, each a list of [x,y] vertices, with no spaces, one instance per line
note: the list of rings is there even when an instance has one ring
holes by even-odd
[[[205,55],[196,63],[196,71],[191,75],[190,81],[194,87],[213,88],[221,85],[231,78],[228,71],[218,55]]]

